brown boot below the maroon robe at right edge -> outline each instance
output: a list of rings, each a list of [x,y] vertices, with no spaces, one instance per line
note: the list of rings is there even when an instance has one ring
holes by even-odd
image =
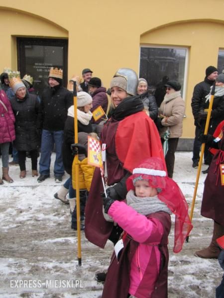
[[[224,226],[214,222],[212,242],[209,247],[196,251],[195,255],[204,259],[218,259],[220,254],[220,248],[216,242],[216,239],[224,235]]]

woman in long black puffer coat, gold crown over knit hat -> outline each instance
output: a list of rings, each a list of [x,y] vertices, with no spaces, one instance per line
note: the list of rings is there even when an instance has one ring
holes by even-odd
[[[30,152],[32,176],[37,176],[37,156],[39,147],[39,101],[36,95],[29,94],[19,77],[9,78],[15,93],[11,99],[15,115],[15,148],[18,150],[20,178],[26,176],[26,151]]]

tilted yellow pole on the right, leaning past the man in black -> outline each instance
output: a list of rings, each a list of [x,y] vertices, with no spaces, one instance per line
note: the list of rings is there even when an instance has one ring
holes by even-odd
[[[206,118],[206,125],[205,125],[204,135],[208,134],[209,122],[210,122],[211,112],[212,112],[212,108],[213,108],[215,87],[216,87],[216,83],[214,83],[213,88],[212,88],[212,92],[211,92],[211,98],[210,98],[210,103],[209,103],[208,115],[207,115],[207,118]],[[195,208],[195,199],[196,199],[197,190],[198,190],[198,182],[199,182],[199,177],[200,177],[200,173],[201,173],[202,160],[203,160],[204,152],[205,152],[205,143],[202,144],[201,155],[200,155],[200,159],[199,159],[198,173],[197,173],[196,182],[195,182],[195,190],[194,190],[194,195],[193,195],[192,204],[191,204],[191,213],[190,213],[190,216],[189,216],[191,221],[192,221],[192,218],[193,218],[193,213],[194,213],[194,208]],[[186,242],[188,242],[188,240],[189,240],[189,235],[186,238]]]

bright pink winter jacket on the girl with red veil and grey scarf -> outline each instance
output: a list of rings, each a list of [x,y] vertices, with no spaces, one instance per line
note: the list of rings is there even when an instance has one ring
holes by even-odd
[[[115,201],[108,214],[135,241],[139,242],[131,261],[128,293],[134,297],[151,297],[160,268],[160,251],[158,246],[153,246],[153,244],[160,243],[163,225],[155,218],[147,219],[146,216],[140,215],[124,202]],[[150,262],[151,256],[155,259],[154,266]],[[143,276],[147,276],[147,283],[141,282]],[[141,287],[140,292],[145,293],[144,296],[138,295],[139,287]]]

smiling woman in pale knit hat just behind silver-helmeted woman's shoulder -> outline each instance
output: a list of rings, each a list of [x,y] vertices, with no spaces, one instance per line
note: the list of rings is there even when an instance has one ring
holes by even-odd
[[[148,83],[146,79],[139,78],[137,86],[137,94],[141,95],[144,108],[152,120],[155,120],[158,116],[158,107],[155,101],[155,97],[149,94]]]

